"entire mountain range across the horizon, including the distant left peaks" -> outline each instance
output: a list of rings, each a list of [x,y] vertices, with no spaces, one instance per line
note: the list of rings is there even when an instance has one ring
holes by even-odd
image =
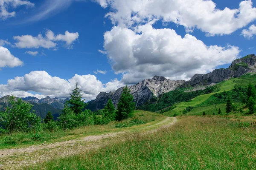
[[[189,81],[170,80],[162,76],[154,76],[152,79],[144,79],[128,88],[131,90],[136,106],[140,106],[153,97],[159,97],[161,94],[174,91],[178,88],[186,88],[186,91],[202,90],[206,87],[215,85],[218,82],[222,82],[223,80],[240,77],[248,72],[256,73],[256,56],[254,54],[234,60],[229,68],[215,69],[208,74],[195,74]],[[116,107],[122,94],[122,89],[123,88],[119,88],[116,91],[109,93],[101,92],[95,100],[87,102],[87,109],[90,109],[91,111],[102,109],[105,107],[108,99],[112,99],[112,102]],[[50,98],[49,96],[43,99],[31,96],[21,99],[30,102],[33,105],[32,109],[42,118],[46,116],[48,111],[51,111],[54,117],[57,118],[64,108],[65,102],[69,100],[68,98]],[[3,110],[7,105],[8,96],[0,98],[0,110]]]

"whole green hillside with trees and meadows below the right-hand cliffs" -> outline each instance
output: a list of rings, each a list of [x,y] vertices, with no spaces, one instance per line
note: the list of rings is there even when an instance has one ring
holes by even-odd
[[[250,83],[256,85],[256,74],[249,73],[238,78],[232,78],[205,90],[192,91],[192,88],[183,88],[170,91],[159,98],[151,99],[138,108],[166,116],[174,116],[175,113],[176,115],[180,115],[180,113],[198,115],[203,112],[213,114],[218,113],[219,108],[222,113],[225,113],[227,98],[230,96],[237,112],[239,109],[246,111],[245,104],[242,102],[243,96],[246,95],[245,88]]]

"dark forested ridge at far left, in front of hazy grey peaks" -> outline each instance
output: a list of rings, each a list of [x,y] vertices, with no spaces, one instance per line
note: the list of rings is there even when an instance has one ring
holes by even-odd
[[[6,108],[6,106],[9,105],[9,97],[10,96],[4,96],[0,98],[0,111],[3,111]],[[52,116],[54,117],[54,119],[57,119],[57,117],[61,114],[61,110],[52,107],[52,105],[49,105],[47,103],[37,103],[36,101],[39,101],[39,99],[35,97],[26,97],[22,99],[26,102],[31,103],[33,105],[31,112],[35,111],[36,115],[40,116],[42,119],[45,118],[49,111],[52,112]]]

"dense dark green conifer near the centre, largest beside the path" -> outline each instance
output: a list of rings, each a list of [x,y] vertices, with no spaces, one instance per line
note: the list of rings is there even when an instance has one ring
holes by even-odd
[[[130,90],[127,86],[123,88],[122,95],[117,104],[117,120],[127,119],[128,117],[132,117],[132,112],[135,108],[135,103],[133,101],[133,96],[130,94]]]

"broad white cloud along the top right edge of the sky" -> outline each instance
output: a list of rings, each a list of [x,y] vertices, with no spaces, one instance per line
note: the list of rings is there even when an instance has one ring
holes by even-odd
[[[239,3],[239,8],[218,9],[212,0],[96,0],[103,8],[110,6],[113,24],[132,27],[142,23],[173,22],[186,31],[198,28],[209,36],[231,34],[256,19],[251,0]]]

